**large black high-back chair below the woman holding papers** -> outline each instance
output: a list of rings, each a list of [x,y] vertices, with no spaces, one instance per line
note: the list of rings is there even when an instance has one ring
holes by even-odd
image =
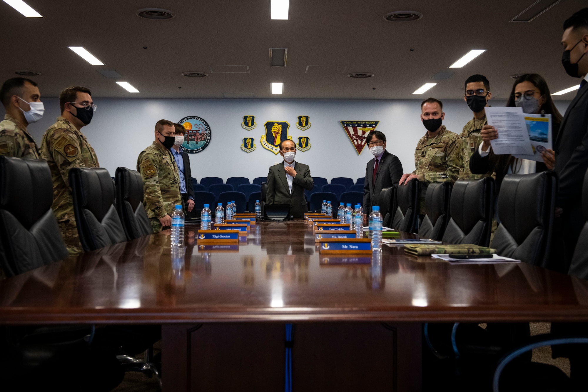
[[[547,267],[556,188],[553,171],[507,175],[498,196],[500,225],[490,247],[501,256]]]

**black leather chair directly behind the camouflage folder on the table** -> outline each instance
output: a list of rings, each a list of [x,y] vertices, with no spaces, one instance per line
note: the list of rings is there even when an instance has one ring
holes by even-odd
[[[456,181],[449,203],[451,218],[442,241],[447,244],[487,247],[492,232],[494,192],[495,182],[492,177]]]

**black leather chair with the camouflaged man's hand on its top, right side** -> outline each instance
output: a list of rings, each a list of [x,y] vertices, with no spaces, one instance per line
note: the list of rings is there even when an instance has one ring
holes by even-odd
[[[398,207],[392,221],[392,227],[395,230],[417,232],[420,212],[419,180],[413,178],[406,185],[397,185],[396,202]]]

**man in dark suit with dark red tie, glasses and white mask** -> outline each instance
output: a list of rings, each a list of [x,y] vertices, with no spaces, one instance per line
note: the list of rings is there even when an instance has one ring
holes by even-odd
[[[398,184],[403,173],[398,157],[386,151],[385,134],[380,131],[369,132],[366,144],[374,158],[366,166],[366,179],[363,181],[364,221],[372,211],[372,206],[378,205],[382,189]]]

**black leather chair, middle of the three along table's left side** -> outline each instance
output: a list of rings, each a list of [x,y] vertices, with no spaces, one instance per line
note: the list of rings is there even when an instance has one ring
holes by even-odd
[[[79,240],[86,252],[126,241],[114,205],[114,184],[105,168],[69,171]]]

